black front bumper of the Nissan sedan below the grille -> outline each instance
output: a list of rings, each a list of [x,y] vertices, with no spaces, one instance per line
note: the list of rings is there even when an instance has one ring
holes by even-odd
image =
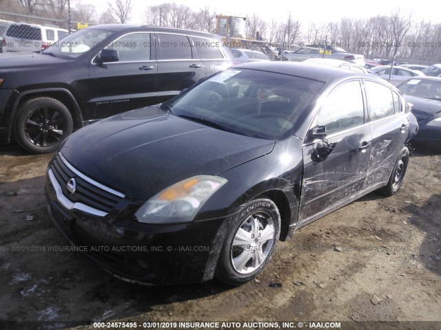
[[[105,217],[68,210],[59,203],[50,177],[45,181],[48,211],[57,229],[85,255],[114,276],[136,283],[201,283],[214,276],[225,221],[154,225],[115,210]]]

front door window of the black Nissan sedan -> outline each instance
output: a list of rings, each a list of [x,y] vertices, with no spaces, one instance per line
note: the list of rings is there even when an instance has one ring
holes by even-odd
[[[327,98],[316,120],[328,134],[344,131],[365,123],[365,107],[358,80],[336,87]]]

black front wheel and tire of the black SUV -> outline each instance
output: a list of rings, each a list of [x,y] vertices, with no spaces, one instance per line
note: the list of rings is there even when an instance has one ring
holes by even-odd
[[[15,137],[32,153],[52,153],[72,133],[72,115],[67,107],[53,98],[29,100],[17,113]]]

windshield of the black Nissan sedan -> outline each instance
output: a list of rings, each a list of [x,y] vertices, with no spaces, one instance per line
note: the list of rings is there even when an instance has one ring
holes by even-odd
[[[289,135],[324,84],[315,80],[228,69],[168,103],[170,111],[207,126],[268,140]]]

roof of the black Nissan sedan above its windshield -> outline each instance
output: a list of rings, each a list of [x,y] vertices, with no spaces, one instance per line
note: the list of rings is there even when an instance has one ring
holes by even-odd
[[[261,61],[261,62],[247,62],[240,65],[235,65],[232,69],[256,69],[262,71],[276,72],[279,74],[289,74],[291,76],[298,76],[307,79],[313,79],[327,83],[337,77],[369,77],[376,78],[369,74],[362,74],[358,72],[351,72],[347,69],[340,69],[339,67],[329,67],[326,65],[314,65],[307,63],[292,63],[280,61]],[[380,80],[379,80],[380,81]]]

